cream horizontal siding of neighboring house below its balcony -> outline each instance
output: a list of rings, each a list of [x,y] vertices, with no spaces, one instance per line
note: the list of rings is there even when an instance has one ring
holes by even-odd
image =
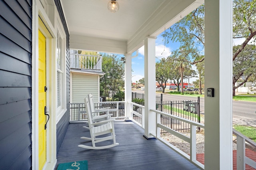
[[[99,96],[99,75],[86,75],[72,73],[72,103],[82,103],[84,98],[92,93],[94,102],[98,101]]]

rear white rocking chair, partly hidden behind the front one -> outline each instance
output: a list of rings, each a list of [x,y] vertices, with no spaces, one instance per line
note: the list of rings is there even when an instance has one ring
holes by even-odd
[[[112,114],[109,114],[109,107],[95,109],[93,95],[88,94],[88,99],[89,99],[90,109],[92,112],[92,121],[99,122],[99,121],[105,121],[105,120],[111,119]],[[102,112],[106,112],[106,114],[100,115],[99,113],[102,113]],[[89,129],[89,127],[87,126],[83,126],[83,128]]]

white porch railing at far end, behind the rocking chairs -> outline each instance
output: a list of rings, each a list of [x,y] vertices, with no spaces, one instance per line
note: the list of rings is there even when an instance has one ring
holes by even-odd
[[[125,102],[110,101],[110,102],[95,102],[95,109],[109,107],[110,114],[113,114],[115,119],[125,118]],[[84,103],[70,103],[70,122],[87,121]]]

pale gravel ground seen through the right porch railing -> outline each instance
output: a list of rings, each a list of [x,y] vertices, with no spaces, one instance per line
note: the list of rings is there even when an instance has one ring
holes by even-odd
[[[189,132],[182,132],[182,134],[186,136],[190,136]],[[185,142],[184,140],[170,134],[162,134],[161,137],[170,142],[172,145],[176,146],[186,154],[190,154],[190,144],[188,142]],[[233,142],[233,150],[236,150],[236,143]],[[196,134],[196,153],[204,153],[204,133],[199,132]]]

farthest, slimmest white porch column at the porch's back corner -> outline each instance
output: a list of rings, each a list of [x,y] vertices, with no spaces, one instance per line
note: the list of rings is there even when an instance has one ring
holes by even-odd
[[[125,64],[124,64],[124,94],[126,109],[125,115],[126,120],[130,120],[131,117],[131,105],[128,101],[132,101],[132,54],[125,55]]]

